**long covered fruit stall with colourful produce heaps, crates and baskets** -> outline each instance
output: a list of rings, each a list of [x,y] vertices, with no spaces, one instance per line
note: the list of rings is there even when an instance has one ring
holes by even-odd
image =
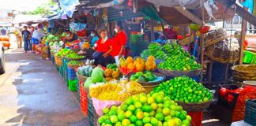
[[[77,91],[81,111],[88,115],[89,124],[201,126],[205,113],[213,111],[210,114],[229,124],[244,120],[255,125],[254,54],[245,51],[241,59],[238,43],[242,42],[226,40],[227,31],[206,25],[207,21],[201,18],[206,10],[199,9],[198,17],[180,6],[155,8],[152,5],[157,4],[149,1],[152,2],[118,1],[114,7],[102,5],[104,2],[81,4],[71,23],[63,25],[70,26],[78,35],[77,40],[64,43],[63,27],[48,33],[37,46],[43,58],[51,58],[68,89]],[[120,6],[125,9],[119,11]],[[224,5],[218,7],[226,9]],[[87,31],[105,25],[112,37],[116,20],[126,21],[131,54],[119,58],[120,65],[96,65]],[[154,30],[166,37],[164,26],[168,24],[174,26],[176,38],[153,42]],[[186,34],[179,24],[186,24]],[[150,37],[144,33],[145,28],[150,30]],[[237,65],[241,60],[248,65]],[[216,72],[217,69],[224,71]],[[215,74],[224,76],[224,80],[213,80]]]

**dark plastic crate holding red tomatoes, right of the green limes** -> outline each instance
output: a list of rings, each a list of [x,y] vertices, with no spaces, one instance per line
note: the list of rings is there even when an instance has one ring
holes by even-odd
[[[235,90],[235,89],[239,88],[239,86],[237,86],[235,84],[223,84],[223,85],[220,85],[220,88],[221,87],[224,87],[228,90]],[[239,97],[238,93],[228,92],[224,96],[220,95],[220,93],[219,93],[217,103],[221,106],[226,106],[230,109],[234,109],[238,97]]]

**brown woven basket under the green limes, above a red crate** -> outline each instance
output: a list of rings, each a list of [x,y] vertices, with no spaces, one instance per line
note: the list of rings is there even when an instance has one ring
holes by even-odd
[[[209,105],[213,99],[209,100],[208,102],[201,102],[201,103],[185,103],[185,102],[178,102],[179,106],[183,106],[183,109],[187,112],[201,112],[204,109],[208,109]]]

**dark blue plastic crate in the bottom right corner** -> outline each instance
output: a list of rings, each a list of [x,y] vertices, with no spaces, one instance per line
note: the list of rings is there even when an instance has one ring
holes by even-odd
[[[251,125],[256,125],[256,99],[247,100],[244,121]]]

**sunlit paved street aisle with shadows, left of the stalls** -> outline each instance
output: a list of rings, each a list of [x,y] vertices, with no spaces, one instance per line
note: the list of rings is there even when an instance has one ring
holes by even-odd
[[[0,126],[88,125],[77,92],[68,91],[51,61],[22,50],[6,52],[0,75]]]

